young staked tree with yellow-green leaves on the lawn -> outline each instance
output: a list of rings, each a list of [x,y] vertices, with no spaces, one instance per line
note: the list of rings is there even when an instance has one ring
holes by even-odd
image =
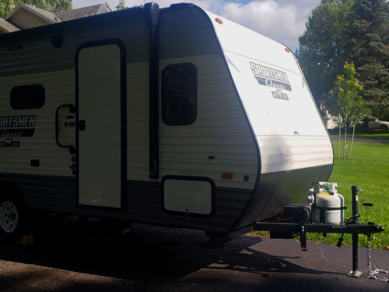
[[[346,62],[343,66],[343,74],[336,77],[334,88],[330,91],[328,96],[328,109],[339,125],[339,142],[340,128],[344,127],[343,159],[346,157],[347,127],[349,125],[353,126],[352,150],[356,122],[368,114],[368,109],[366,107],[367,102],[361,96],[363,88],[359,83],[359,80],[355,77],[355,74],[354,64]],[[351,150],[349,157],[351,156]],[[338,153],[339,152],[340,143]]]

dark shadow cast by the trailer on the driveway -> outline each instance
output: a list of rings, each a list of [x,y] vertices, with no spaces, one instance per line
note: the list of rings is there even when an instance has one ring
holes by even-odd
[[[217,287],[216,291],[235,291],[246,287],[242,291],[258,291],[261,287],[274,286],[283,291],[284,286],[285,291],[296,291],[290,290],[290,285],[304,289],[305,284],[311,283],[330,291],[328,279],[323,275],[332,279],[344,276],[293,263],[300,256],[261,252],[263,239],[257,236],[236,238],[223,248],[201,249],[198,245],[207,237],[196,230],[133,224],[130,234],[116,238],[109,236],[109,228],[100,223],[89,225],[87,229],[69,222],[63,225],[56,222],[52,227],[55,229],[50,234],[47,229],[43,235],[37,232],[38,240],[33,245],[0,242],[0,264],[7,261],[35,267],[6,274],[0,272],[2,291],[15,291],[15,287],[24,290],[20,283],[27,283],[25,286],[29,287],[28,283],[46,283],[51,277],[53,286],[45,290],[215,291]],[[40,267],[43,271],[38,269]],[[52,270],[47,268],[61,272],[53,276]],[[78,280],[77,275],[70,276],[72,273],[87,274],[87,279]]]

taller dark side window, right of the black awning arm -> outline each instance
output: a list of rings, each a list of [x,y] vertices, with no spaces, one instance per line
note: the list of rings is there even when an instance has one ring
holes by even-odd
[[[192,63],[172,64],[162,71],[162,120],[186,126],[197,117],[197,69]]]

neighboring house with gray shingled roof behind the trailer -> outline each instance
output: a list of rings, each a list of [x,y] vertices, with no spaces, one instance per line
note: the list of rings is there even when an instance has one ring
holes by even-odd
[[[109,12],[106,4],[97,4],[60,12],[50,12],[31,5],[19,3],[5,19],[0,18],[0,34],[106,12]]]

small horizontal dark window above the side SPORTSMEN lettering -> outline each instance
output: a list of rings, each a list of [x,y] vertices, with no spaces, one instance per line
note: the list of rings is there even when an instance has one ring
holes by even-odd
[[[39,109],[45,104],[45,88],[40,84],[15,86],[10,103],[14,110]]]

